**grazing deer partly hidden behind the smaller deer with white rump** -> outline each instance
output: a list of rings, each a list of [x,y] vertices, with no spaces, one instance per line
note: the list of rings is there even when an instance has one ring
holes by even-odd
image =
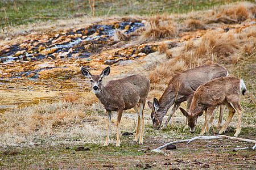
[[[167,127],[167,124],[170,121],[172,115],[180,107],[180,104],[183,101],[187,100],[188,111],[193,98],[193,94],[196,91],[197,87],[209,82],[209,80],[227,75],[228,71],[225,69],[225,67],[217,64],[199,66],[175,74],[168,83],[168,87],[166,88],[166,90],[164,90],[163,95],[160,97],[159,101],[156,98],[154,98],[153,103],[148,101],[148,107],[152,110],[151,118],[154,128],[160,128],[164,115],[166,115],[168,109],[172,105],[174,105],[174,107],[171,109],[171,113],[163,128]],[[218,126],[221,126],[223,111],[224,107],[220,106],[220,117],[218,120]],[[184,129],[186,128],[186,126],[187,121]]]

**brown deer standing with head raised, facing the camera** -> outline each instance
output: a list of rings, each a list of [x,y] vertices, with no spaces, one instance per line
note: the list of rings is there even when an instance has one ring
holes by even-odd
[[[104,146],[109,145],[109,134],[112,111],[117,111],[117,146],[120,146],[119,124],[123,111],[134,108],[138,114],[137,131],[134,141],[138,141],[139,125],[141,125],[141,136],[139,145],[143,144],[143,109],[147,94],[150,89],[150,80],[142,75],[131,75],[126,78],[109,81],[105,86],[102,80],[109,75],[110,66],[106,67],[100,75],[92,75],[81,67],[82,74],[91,82],[93,93],[101,101],[108,114],[108,132]]]

